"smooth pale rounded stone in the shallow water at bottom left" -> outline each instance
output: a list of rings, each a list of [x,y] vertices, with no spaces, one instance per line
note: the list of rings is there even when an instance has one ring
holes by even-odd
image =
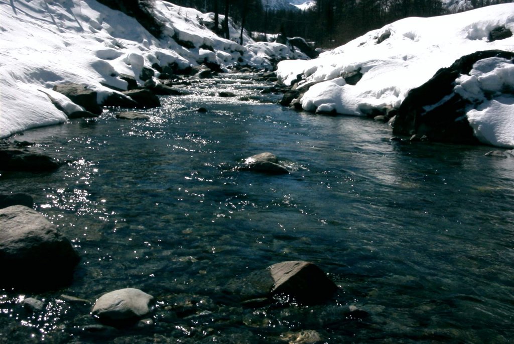
[[[131,324],[150,314],[153,299],[136,288],[118,289],[96,300],[91,313],[106,324]]]

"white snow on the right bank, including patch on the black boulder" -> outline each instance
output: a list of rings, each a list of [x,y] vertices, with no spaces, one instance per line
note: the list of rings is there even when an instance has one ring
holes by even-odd
[[[277,73],[285,84],[299,74],[305,77],[303,83],[317,83],[301,98],[307,111],[364,115],[372,107],[397,108],[410,89],[464,55],[490,49],[514,51],[514,37],[488,42],[489,32],[499,26],[514,32],[513,3],[438,17],[410,17],[370,31],[318,59],[282,61]],[[384,33],[391,35],[378,44]],[[346,84],[341,76],[358,68],[362,79],[356,85]],[[512,74],[511,63],[482,61],[470,76],[459,79],[455,92],[474,97],[476,106],[480,105],[476,111],[469,109],[468,118],[484,143],[514,147],[514,106],[506,98],[485,101],[498,97],[500,90],[510,89],[512,94]],[[492,120],[497,113],[493,109],[503,120]],[[503,129],[493,129],[497,126]]]

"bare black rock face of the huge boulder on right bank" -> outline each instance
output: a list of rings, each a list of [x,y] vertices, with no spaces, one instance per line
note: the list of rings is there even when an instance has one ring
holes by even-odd
[[[473,65],[483,59],[514,58],[514,52],[477,51],[439,69],[425,84],[411,89],[401,103],[393,125],[395,135],[427,136],[434,141],[477,143],[466,113],[471,103],[455,92],[457,78],[468,75]]]

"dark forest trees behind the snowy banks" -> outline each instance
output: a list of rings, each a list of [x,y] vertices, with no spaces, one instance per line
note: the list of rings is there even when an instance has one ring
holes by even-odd
[[[99,0],[115,9],[128,9],[143,15],[145,27],[158,36],[159,23],[149,19],[151,0]],[[287,37],[301,36],[318,47],[336,47],[388,23],[409,16],[435,16],[460,10],[470,10],[511,0],[468,0],[465,7],[457,7],[457,0],[316,0],[310,10],[270,10],[268,0],[164,0],[192,7],[201,12],[214,13],[214,30],[229,38],[229,26],[222,17],[230,17],[236,24],[252,32],[283,33]],[[263,4],[264,3],[264,4]],[[452,5],[453,4],[453,5]],[[137,14],[136,13],[136,14]],[[127,13],[130,14],[130,13]],[[139,20],[139,19],[138,19]],[[141,22],[141,21],[140,21]],[[242,42],[243,30],[240,40]]]

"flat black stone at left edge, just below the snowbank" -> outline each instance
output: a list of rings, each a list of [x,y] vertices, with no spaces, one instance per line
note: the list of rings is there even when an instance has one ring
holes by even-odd
[[[0,161],[3,171],[50,172],[60,167],[59,162],[47,155],[18,149],[1,149]]]

